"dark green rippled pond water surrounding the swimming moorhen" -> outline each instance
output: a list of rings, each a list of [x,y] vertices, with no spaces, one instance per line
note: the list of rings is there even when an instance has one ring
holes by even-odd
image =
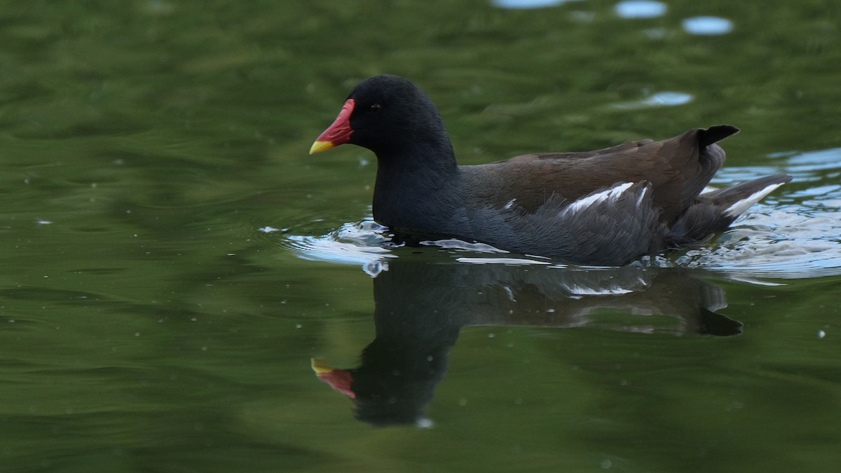
[[[0,471],[837,470],[841,6],[666,4],[0,2]],[[462,163],[729,123],[795,181],[637,268],[389,248],[307,155],[383,72]]]

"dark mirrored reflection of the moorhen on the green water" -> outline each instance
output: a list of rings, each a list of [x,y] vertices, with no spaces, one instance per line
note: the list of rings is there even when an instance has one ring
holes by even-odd
[[[600,327],[632,332],[735,335],[717,314],[724,291],[680,270],[437,264],[396,258],[373,280],[376,337],[357,368],[313,360],[321,380],[352,398],[356,417],[418,423],[468,326]],[[609,313],[611,317],[605,315]],[[616,313],[624,316],[616,320]]]

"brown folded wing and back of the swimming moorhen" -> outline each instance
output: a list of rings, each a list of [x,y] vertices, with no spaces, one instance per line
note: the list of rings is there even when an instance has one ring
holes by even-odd
[[[476,198],[534,211],[552,194],[574,200],[616,183],[646,180],[661,221],[685,210],[722,167],[724,151],[715,141],[737,132],[720,125],[690,130],[664,141],[635,141],[603,150],[544,153],[467,166],[468,188]]]

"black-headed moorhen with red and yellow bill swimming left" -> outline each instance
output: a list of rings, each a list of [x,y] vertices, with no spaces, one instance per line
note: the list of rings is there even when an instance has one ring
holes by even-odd
[[[704,192],[730,125],[664,141],[526,154],[458,166],[441,116],[403,77],[360,82],[310,149],[343,143],[377,155],[373,218],[392,231],[458,237],[569,263],[620,266],[723,231],[791,176]]]

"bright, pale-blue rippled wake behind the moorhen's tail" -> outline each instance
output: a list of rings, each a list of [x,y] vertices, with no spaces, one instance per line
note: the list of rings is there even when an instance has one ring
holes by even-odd
[[[726,167],[713,181],[730,185],[771,173],[795,178],[754,205],[714,245],[673,261],[644,263],[722,270],[780,279],[841,274],[841,148],[770,155],[777,165]],[[809,187],[798,188],[798,184]]]

